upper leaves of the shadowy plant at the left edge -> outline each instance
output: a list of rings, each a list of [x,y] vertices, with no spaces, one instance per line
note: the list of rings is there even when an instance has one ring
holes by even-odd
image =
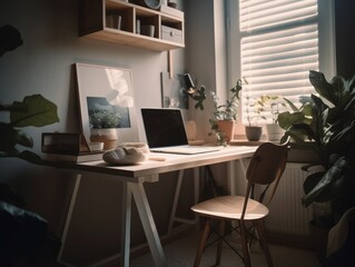
[[[20,32],[12,26],[0,28],[0,56],[22,44]],[[22,101],[0,103],[0,111],[9,113],[9,122],[0,121],[0,157],[18,157],[31,162],[40,162],[40,157],[18,146],[33,147],[33,139],[21,128],[42,127],[59,121],[57,106],[41,95],[24,97]]]

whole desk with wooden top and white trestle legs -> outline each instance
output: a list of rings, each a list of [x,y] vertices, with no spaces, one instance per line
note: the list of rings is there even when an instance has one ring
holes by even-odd
[[[131,197],[134,197],[139,218],[142,222],[144,230],[148,240],[148,245],[154,258],[155,266],[165,267],[166,258],[162,251],[161,243],[157,233],[157,228],[151,215],[149,202],[144,188],[144,182],[154,182],[159,180],[159,174],[169,171],[197,168],[207,165],[228,162],[229,187],[234,188],[235,164],[240,162],[244,158],[250,158],[257,147],[238,147],[230,146],[219,151],[199,154],[199,155],[172,155],[172,154],[151,154],[151,157],[162,157],[165,161],[147,160],[136,166],[109,166],[103,161],[90,161],[82,164],[51,162],[49,165],[57,168],[66,168],[70,171],[77,171],[73,194],[71,197],[69,211],[62,234],[62,246],[58,255],[61,259],[62,249],[71,220],[71,214],[76,202],[77,191],[79,189],[81,175],[85,172],[95,172],[101,176],[109,176],[117,179],[124,185],[122,196],[122,237],[121,237],[121,265],[129,266],[129,244],[130,244],[130,219],[131,219]],[[234,194],[234,191],[231,191]]]

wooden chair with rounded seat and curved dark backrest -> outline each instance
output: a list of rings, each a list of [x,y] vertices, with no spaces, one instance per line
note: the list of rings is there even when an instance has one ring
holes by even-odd
[[[196,254],[194,264],[195,267],[199,266],[200,264],[207,239],[214,227],[211,221],[215,220],[219,224],[219,233],[217,233],[218,239],[216,266],[220,264],[221,244],[223,241],[227,243],[225,236],[229,234],[225,233],[226,221],[236,221],[236,227],[230,226],[230,228],[240,235],[243,254],[234,249],[230,244],[227,243],[227,245],[240,256],[246,267],[252,266],[249,254],[250,243],[248,239],[254,238],[259,240],[260,247],[263,248],[267,260],[267,265],[269,267],[273,266],[273,260],[265,237],[264,218],[269,212],[267,205],[274,197],[279,179],[285,170],[287,152],[288,140],[283,145],[276,145],[272,142],[260,145],[255,151],[246,172],[248,182],[245,197],[220,196],[199,202],[191,207],[194,212],[198,214],[205,219],[205,229],[203,231]],[[258,200],[254,199],[255,185],[262,185],[263,187]],[[267,189],[270,191],[267,194],[266,199],[265,196]],[[248,225],[250,225],[250,227],[247,228]],[[257,235],[254,233],[255,229]]]

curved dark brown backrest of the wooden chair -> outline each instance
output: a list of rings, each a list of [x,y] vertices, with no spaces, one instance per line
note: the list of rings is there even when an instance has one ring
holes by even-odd
[[[258,147],[252,157],[247,169],[246,178],[248,180],[248,186],[246,196],[250,195],[254,185],[265,185],[267,187],[259,199],[259,201],[263,201],[268,186],[274,182],[265,205],[270,202],[286,167],[287,154],[289,150],[288,142],[289,139],[282,145],[265,142]]]

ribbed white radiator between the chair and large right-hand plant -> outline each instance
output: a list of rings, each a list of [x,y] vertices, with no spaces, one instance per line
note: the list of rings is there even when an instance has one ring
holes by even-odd
[[[303,164],[287,164],[276,195],[269,204],[270,214],[266,229],[277,234],[308,235],[308,222],[313,208],[302,205],[303,184],[309,172],[303,171]]]

